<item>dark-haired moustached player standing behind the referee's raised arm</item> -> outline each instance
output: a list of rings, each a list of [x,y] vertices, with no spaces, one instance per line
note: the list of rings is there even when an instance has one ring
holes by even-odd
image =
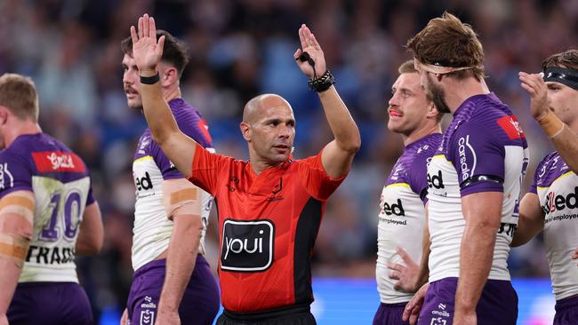
[[[214,152],[205,119],[181,99],[180,78],[189,62],[186,47],[158,30],[165,46],[158,64],[163,99],[179,129]],[[132,38],[122,42],[123,85],[128,106],[142,110]],[[132,229],[134,275],[121,323],[210,324],[219,311],[219,289],[205,259],[205,230],[212,197],[191,184],[152,139],[140,136],[132,177],[136,186]]]

